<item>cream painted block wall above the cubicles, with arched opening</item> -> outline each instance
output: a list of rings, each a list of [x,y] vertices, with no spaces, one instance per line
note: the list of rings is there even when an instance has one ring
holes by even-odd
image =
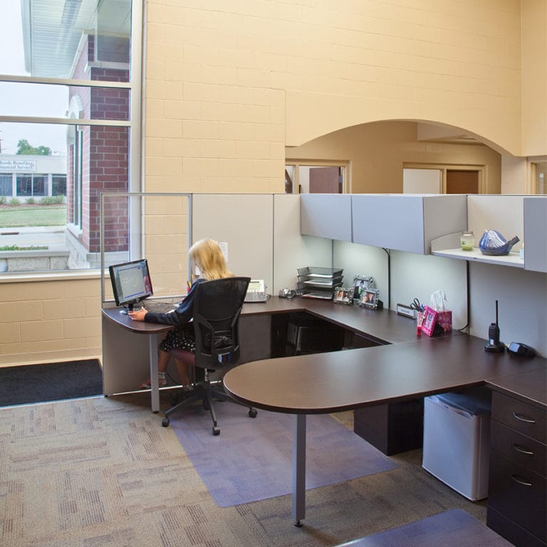
[[[284,146],[378,120],[522,152],[518,0],[149,0],[146,17],[149,191],[283,192]]]

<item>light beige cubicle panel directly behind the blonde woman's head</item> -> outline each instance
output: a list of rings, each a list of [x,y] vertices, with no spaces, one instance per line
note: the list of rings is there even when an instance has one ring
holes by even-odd
[[[237,276],[273,286],[273,197],[271,194],[193,194],[192,242],[214,239],[227,250]]]

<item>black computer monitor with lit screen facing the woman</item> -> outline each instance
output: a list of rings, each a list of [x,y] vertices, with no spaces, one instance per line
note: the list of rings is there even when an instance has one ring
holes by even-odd
[[[132,311],[135,304],[154,294],[146,259],[114,264],[108,271],[116,306],[125,307],[122,313]]]

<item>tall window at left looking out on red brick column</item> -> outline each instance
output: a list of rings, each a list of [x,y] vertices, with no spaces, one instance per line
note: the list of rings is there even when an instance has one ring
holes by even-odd
[[[69,267],[97,268],[101,192],[140,189],[140,105],[131,96],[140,85],[142,3],[5,4],[0,48],[10,55],[0,57],[0,191],[8,204],[61,197]],[[126,241],[115,250],[127,251]]]

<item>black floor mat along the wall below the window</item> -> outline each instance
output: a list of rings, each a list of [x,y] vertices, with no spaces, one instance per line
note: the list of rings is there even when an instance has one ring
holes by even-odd
[[[0,367],[0,406],[61,401],[103,393],[98,359]]]

